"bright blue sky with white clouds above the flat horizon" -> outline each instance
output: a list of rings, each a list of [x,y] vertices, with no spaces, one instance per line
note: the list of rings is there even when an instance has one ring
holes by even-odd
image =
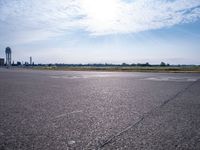
[[[0,0],[0,57],[200,65],[200,0]]]

